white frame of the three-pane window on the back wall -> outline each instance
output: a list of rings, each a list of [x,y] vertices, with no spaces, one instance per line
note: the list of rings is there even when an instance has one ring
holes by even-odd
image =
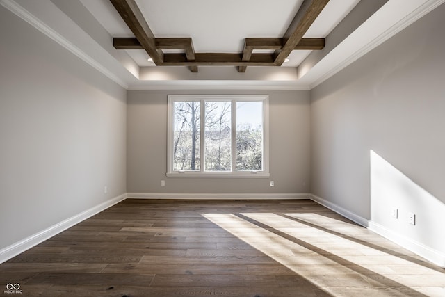
[[[174,138],[174,102],[199,101],[230,101],[232,102],[232,171],[205,171],[204,170],[204,129],[200,129],[200,170],[174,171],[173,170],[173,138]],[[263,102],[263,168],[260,171],[236,171],[236,102]],[[201,107],[201,113],[203,113]],[[203,116],[201,116],[204,119]],[[168,95],[167,116],[167,177],[245,177],[267,178],[269,173],[269,96],[268,95]],[[203,124],[200,124],[201,127]]]

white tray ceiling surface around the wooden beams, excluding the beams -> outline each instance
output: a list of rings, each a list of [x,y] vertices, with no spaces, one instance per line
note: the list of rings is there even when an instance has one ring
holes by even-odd
[[[86,63],[129,89],[311,89],[445,0],[330,0],[305,34],[322,51],[293,51],[282,67],[159,67],[143,50],[118,51],[133,34],[108,0],[0,0]],[[191,37],[195,52],[241,53],[244,38],[282,37],[302,0],[136,0],[156,38]]]

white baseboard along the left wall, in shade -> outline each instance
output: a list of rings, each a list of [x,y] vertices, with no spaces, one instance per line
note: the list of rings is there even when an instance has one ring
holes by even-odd
[[[66,220],[63,220],[62,222],[57,223],[56,225],[52,225],[51,227],[48,227],[45,230],[42,230],[36,234],[26,237],[26,239],[22,239],[21,241],[17,241],[12,245],[7,246],[6,248],[2,248],[0,250],[0,264],[8,261],[8,259],[11,259],[19,255],[25,250],[29,250],[33,246],[37,246],[39,243],[42,243],[42,241],[50,239],[52,236],[60,232],[63,232],[64,230],[67,230],[69,227],[81,223],[81,221],[86,220],[87,218],[90,218],[95,214],[98,214],[100,211],[104,211],[108,207],[111,207],[114,204],[121,202],[125,198],[127,198],[127,194],[119,195],[118,197],[112,198],[106,202],[96,205],[95,207],[87,209],[86,211],[83,211],[80,214],[76,214],[71,218],[67,218]]]

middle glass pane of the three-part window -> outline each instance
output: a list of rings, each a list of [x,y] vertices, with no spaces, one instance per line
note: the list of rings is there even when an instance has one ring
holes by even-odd
[[[205,170],[232,170],[232,104],[205,103]]]

